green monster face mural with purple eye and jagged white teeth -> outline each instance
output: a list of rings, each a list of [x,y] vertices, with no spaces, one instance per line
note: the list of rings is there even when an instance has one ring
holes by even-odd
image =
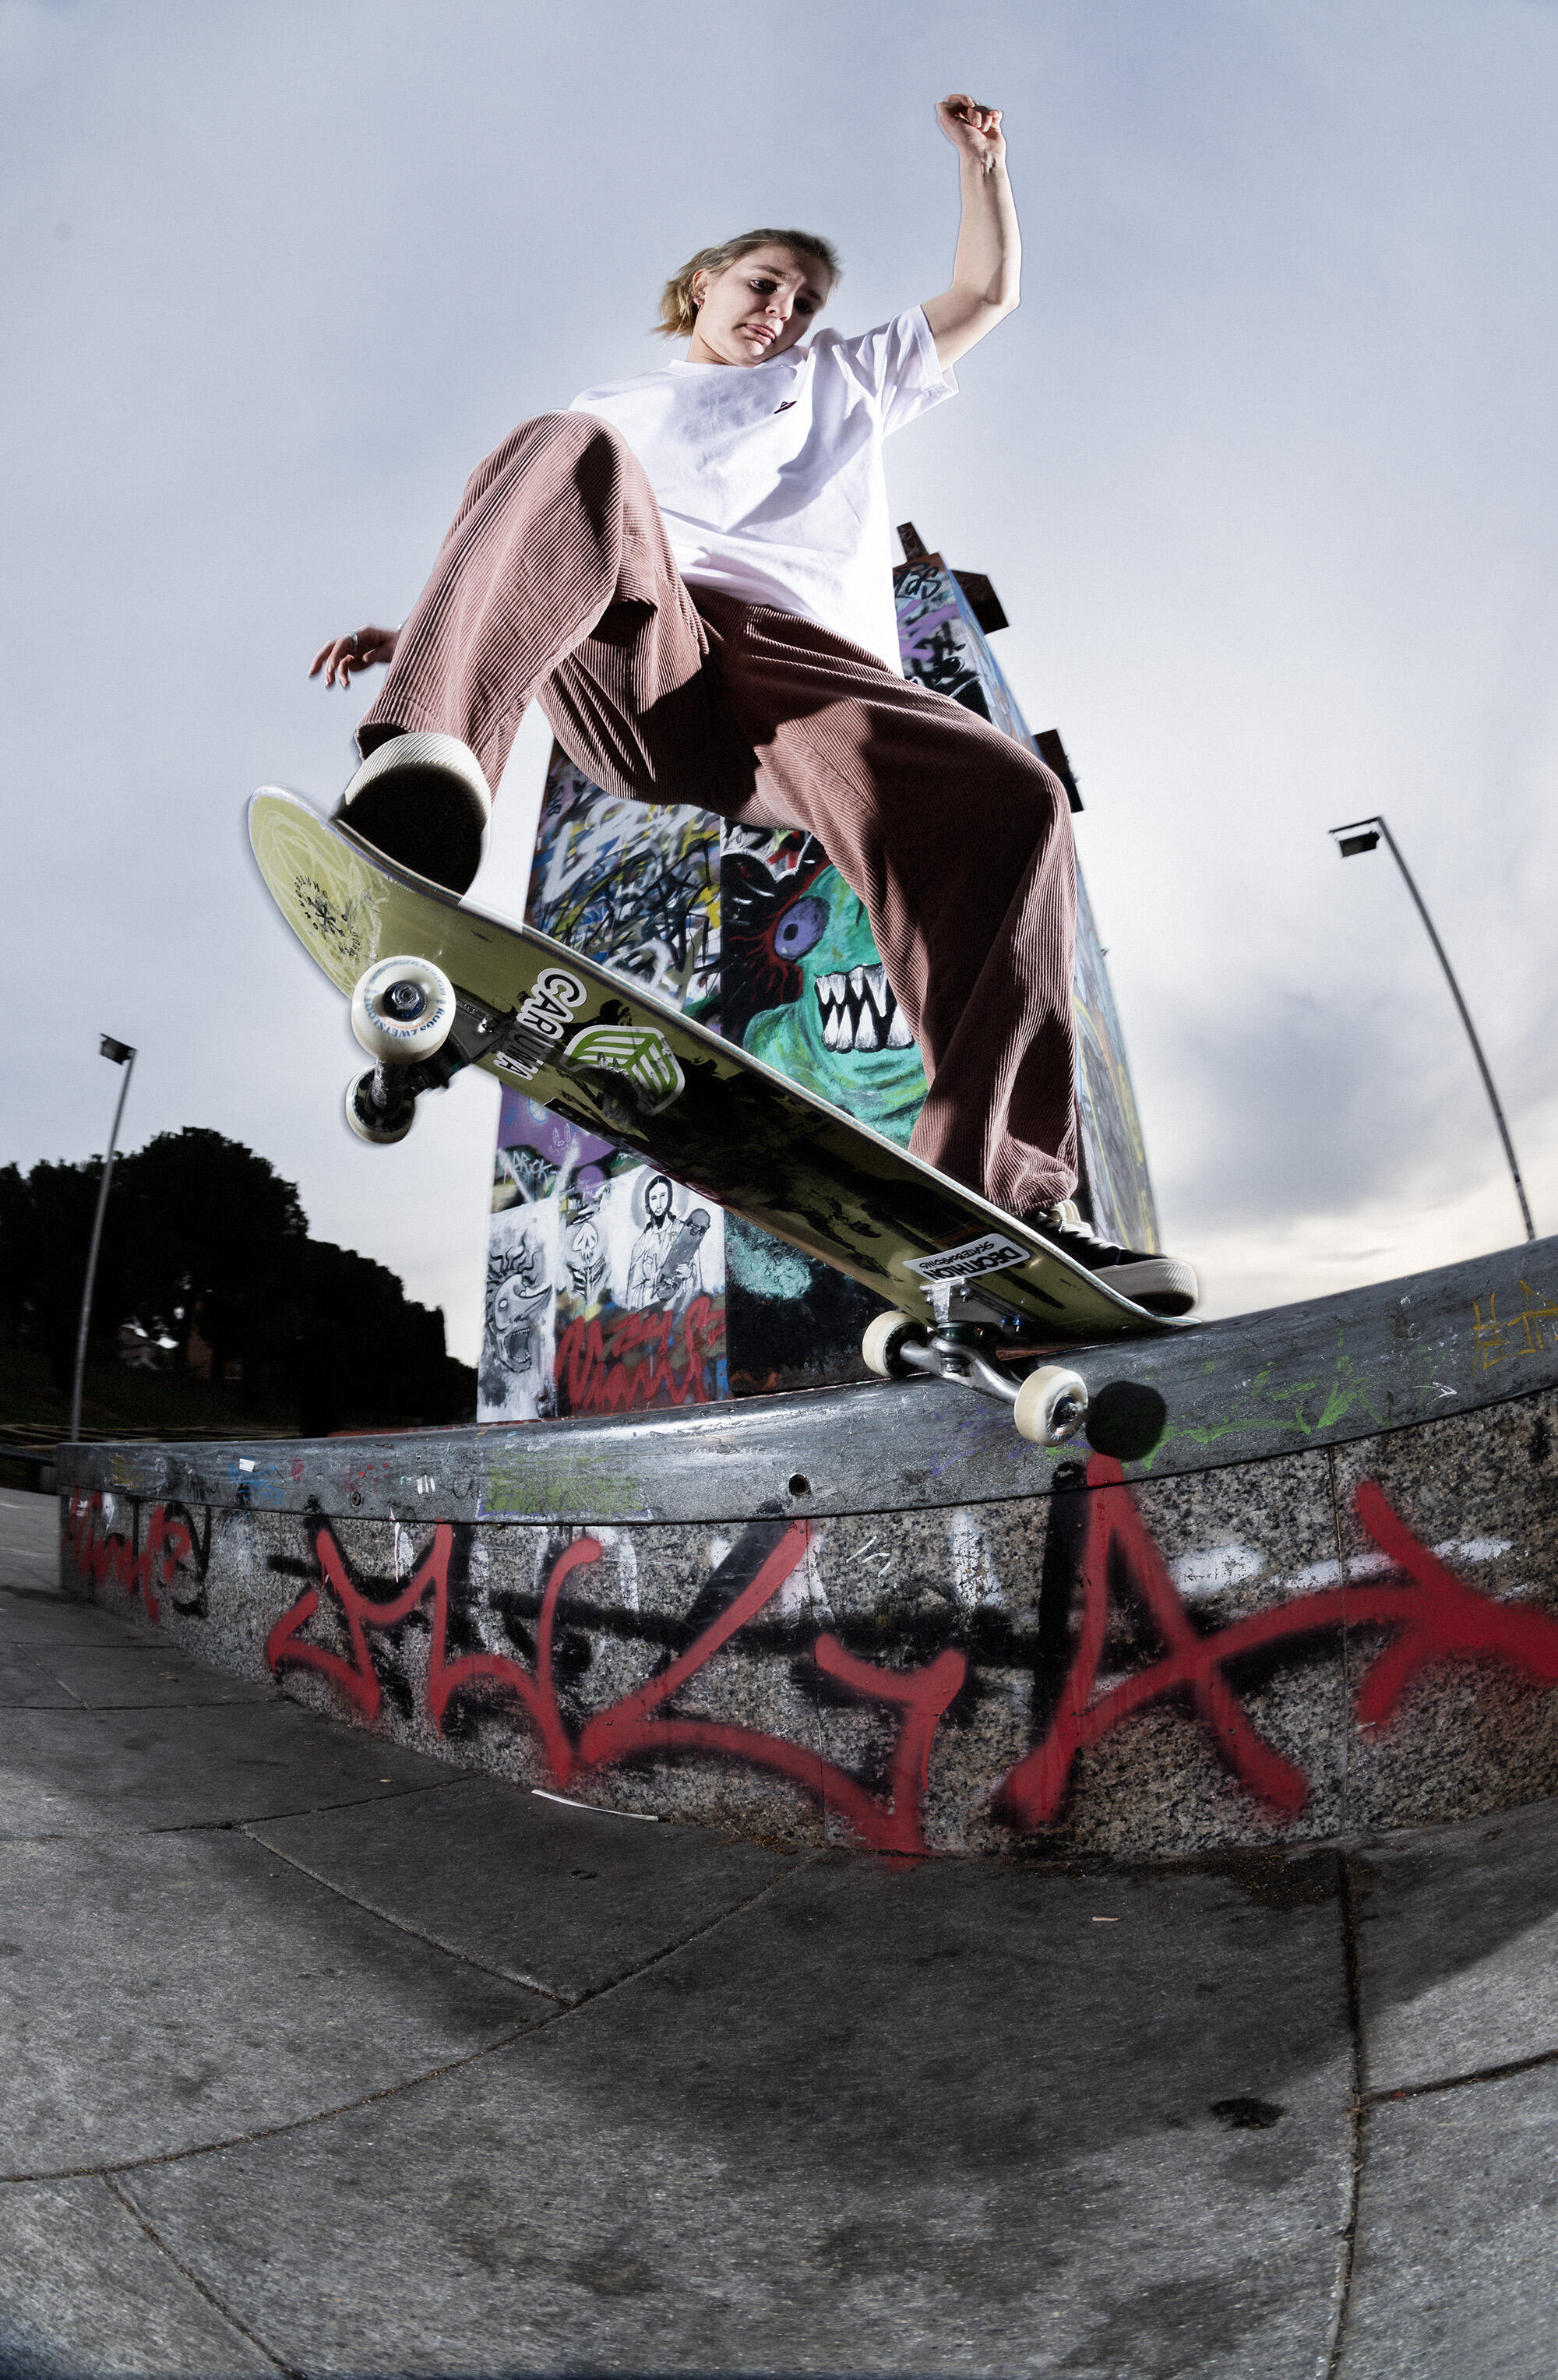
[[[813,835],[725,833],[723,1031],[899,1145],[925,1069],[866,907]]]

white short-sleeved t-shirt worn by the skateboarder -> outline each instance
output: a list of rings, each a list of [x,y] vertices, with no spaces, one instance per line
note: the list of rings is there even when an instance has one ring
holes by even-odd
[[[923,307],[766,364],[664,364],[573,397],[623,433],[690,588],[799,612],[901,674],[882,438],[956,378]]]

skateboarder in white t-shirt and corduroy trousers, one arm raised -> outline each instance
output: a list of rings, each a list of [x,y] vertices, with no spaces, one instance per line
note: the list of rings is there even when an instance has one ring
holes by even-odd
[[[930,1092],[911,1150],[1127,1297],[1185,1311],[1187,1264],[1097,1240],[1078,1180],[1075,862],[1039,757],[901,674],[882,438],[956,393],[1018,302],[1001,109],[937,107],[959,150],[951,283],[859,338],[816,331],[828,240],[749,231],[666,283],[680,362],[523,421],[466,483],[388,662],[340,816],[464,892],[526,702],[609,793],[804,828],[863,900]]]

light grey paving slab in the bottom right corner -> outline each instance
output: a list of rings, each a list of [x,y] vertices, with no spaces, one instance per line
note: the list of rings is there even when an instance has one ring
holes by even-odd
[[[1339,2380],[1551,2380],[1558,2071],[1368,2118]]]

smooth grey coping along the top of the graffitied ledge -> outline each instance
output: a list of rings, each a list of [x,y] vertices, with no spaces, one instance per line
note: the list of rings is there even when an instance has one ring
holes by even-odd
[[[202,1445],[59,1447],[59,1492],[362,1521],[742,1521],[1047,1495],[1265,1461],[1558,1385],[1558,1238],[1149,1340],[1070,1349],[1092,1409],[1030,1447],[1009,1409],[932,1380],[609,1418]]]

